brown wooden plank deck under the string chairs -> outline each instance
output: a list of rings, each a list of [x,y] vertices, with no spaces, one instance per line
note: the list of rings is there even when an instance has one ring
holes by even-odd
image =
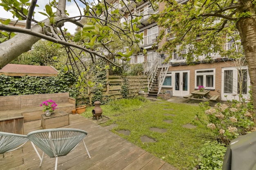
[[[63,128],[77,128],[88,132],[85,144],[92,159],[89,159],[80,143],[68,155],[58,158],[58,170],[178,170],[81,115],[69,116],[70,125]],[[40,129],[40,120],[24,124],[24,134]],[[1,170],[54,170],[55,165],[55,158],[45,155],[42,166],[39,167],[40,160],[30,142],[1,158]]]

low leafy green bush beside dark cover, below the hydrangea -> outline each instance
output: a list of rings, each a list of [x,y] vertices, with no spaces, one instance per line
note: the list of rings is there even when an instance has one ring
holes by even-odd
[[[227,148],[217,141],[207,141],[200,150],[201,170],[221,170]]]

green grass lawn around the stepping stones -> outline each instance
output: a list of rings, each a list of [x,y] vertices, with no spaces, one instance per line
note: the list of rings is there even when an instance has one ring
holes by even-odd
[[[92,117],[93,108],[87,108],[82,115]],[[204,141],[214,140],[209,129],[194,121],[196,113],[203,113],[199,106],[166,101],[141,102],[138,99],[121,99],[112,105],[101,105],[101,108],[103,109],[102,115],[111,118],[110,121],[100,124],[101,126],[117,124],[117,128],[112,129],[112,132],[180,170],[193,169],[197,164],[199,150]],[[119,110],[113,108],[119,108]],[[175,114],[175,116],[164,114]],[[164,122],[168,119],[173,120],[171,124]],[[197,128],[182,127],[188,123]],[[164,128],[167,132],[153,132],[149,130],[150,128]],[[119,134],[117,130],[130,130],[131,133],[126,136]],[[157,142],[143,143],[140,137],[144,135]]]

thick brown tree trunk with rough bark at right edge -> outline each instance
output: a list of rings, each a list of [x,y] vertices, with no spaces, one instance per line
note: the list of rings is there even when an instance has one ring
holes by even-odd
[[[256,17],[241,18],[236,27],[239,31],[241,43],[245,50],[248,72],[251,82],[254,113],[256,113]]]

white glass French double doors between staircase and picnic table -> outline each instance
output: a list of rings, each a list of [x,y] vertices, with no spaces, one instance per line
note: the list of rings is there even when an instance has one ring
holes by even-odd
[[[185,96],[189,94],[189,71],[174,71],[174,96]]]

